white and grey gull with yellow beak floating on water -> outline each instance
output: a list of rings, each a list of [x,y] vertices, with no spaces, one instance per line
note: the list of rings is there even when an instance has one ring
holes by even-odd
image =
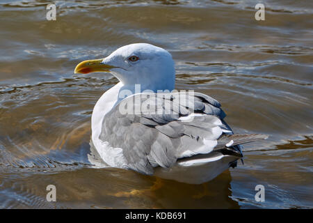
[[[106,166],[202,183],[236,166],[242,157],[239,144],[266,138],[232,134],[219,102],[202,93],[134,95],[136,84],[140,92],[174,89],[174,62],[160,47],[144,43],[120,47],[104,59],[79,63],[75,72],[111,72],[120,80],[99,98],[91,118],[93,145]],[[121,99],[125,92],[130,96]],[[145,97],[137,100],[138,95]],[[181,96],[191,103],[176,100]],[[143,104],[155,109],[125,114],[122,104],[128,109]]]

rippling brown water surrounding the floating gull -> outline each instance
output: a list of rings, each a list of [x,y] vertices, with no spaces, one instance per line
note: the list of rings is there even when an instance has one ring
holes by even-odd
[[[262,1],[263,22],[252,0],[147,2],[56,1],[47,21],[47,1],[1,1],[0,208],[313,208],[313,1]],[[203,185],[93,169],[90,116],[117,80],[74,67],[142,42],[168,49],[177,89],[219,100],[234,132],[271,137]]]

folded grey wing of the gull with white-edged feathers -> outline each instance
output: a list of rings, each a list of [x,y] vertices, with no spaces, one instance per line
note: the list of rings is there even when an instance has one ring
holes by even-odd
[[[232,139],[222,136],[232,130],[223,118],[218,101],[202,93],[141,93],[106,114],[99,138],[122,148],[129,169],[152,175],[154,167],[225,148]]]

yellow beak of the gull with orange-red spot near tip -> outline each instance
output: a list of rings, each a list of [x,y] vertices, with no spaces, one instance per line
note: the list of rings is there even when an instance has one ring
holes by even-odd
[[[115,68],[115,66],[102,63],[102,59],[89,60],[79,63],[76,66],[74,73],[88,74],[89,72],[109,72],[111,68]]]

